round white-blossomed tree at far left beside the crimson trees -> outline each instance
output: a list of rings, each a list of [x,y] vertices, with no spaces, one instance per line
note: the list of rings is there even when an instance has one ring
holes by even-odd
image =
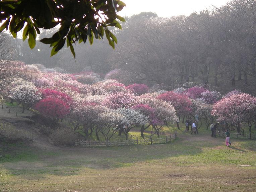
[[[22,104],[22,113],[24,113],[25,108],[32,107],[41,99],[41,93],[31,82],[19,79],[14,81],[12,85],[16,86],[10,89],[10,98]]]

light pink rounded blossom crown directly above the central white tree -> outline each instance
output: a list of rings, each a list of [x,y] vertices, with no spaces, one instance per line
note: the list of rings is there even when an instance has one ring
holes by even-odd
[[[129,108],[134,104],[135,96],[130,93],[117,93],[107,96],[102,104],[111,108]]]

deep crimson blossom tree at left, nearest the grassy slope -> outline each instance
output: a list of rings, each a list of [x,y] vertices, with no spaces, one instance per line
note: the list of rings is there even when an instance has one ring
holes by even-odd
[[[59,119],[64,118],[69,113],[70,107],[62,99],[48,96],[40,100],[35,105],[35,109],[52,122],[58,122]]]

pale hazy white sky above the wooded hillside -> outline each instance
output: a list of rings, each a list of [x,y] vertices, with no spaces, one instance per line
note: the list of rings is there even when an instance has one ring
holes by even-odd
[[[131,16],[140,12],[155,12],[160,17],[190,15],[200,12],[211,5],[225,5],[229,0],[122,0],[127,7],[119,12],[120,16]]]

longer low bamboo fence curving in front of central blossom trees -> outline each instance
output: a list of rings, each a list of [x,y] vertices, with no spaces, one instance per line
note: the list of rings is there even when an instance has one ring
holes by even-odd
[[[153,139],[129,139],[129,140],[115,140],[115,141],[96,141],[96,140],[75,140],[75,146],[82,147],[112,147],[112,146],[126,146],[126,145],[151,145],[159,143],[168,143],[177,138],[177,131],[166,138]]]

